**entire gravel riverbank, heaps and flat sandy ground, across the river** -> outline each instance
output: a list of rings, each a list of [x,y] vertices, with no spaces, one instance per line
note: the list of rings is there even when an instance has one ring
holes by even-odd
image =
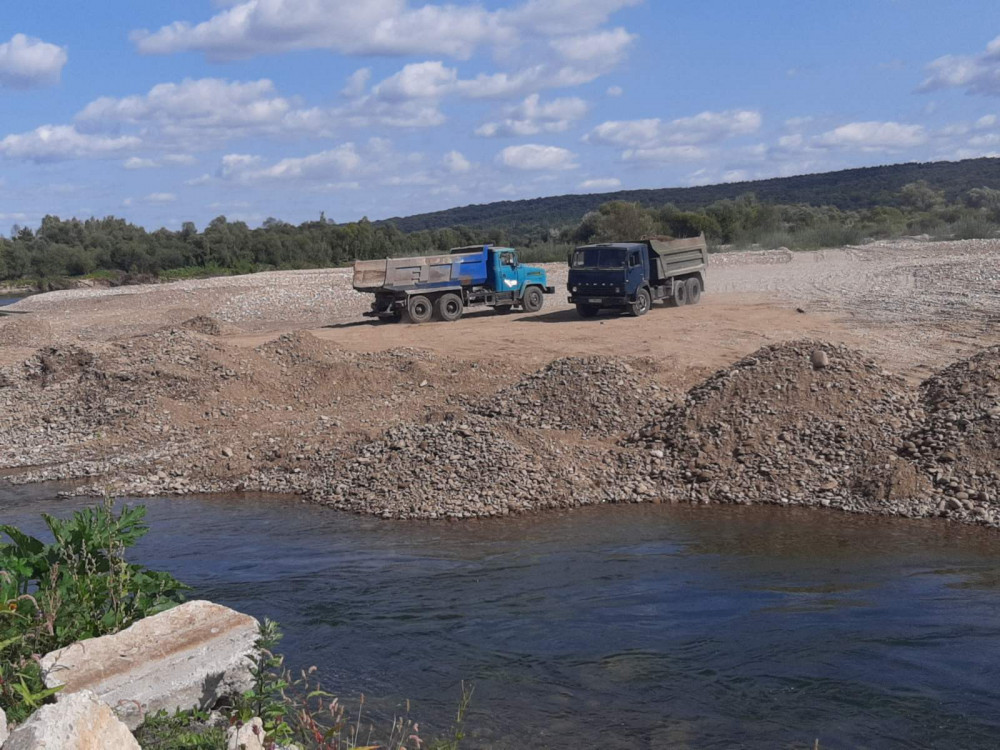
[[[707,502],[996,526],[1000,243],[943,244],[715,256],[709,289],[740,291],[640,319],[581,321],[557,297],[372,325],[343,270],[42,295],[0,322],[0,468],[385,518]],[[867,301],[840,309],[823,284],[858,268]]]

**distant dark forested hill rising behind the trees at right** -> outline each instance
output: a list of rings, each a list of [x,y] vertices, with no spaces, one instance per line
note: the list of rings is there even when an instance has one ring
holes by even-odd
[[[694,209],[742,193],[756,193],[759,199],[770,203],[831,205],[850,210],[894,205],[897,203],[895,193],[903,185],[917,180],[926,180],[932,187],[944,190],[949,200],[976,187],[1000,188],[1000,159],[893,164],[701,187],[557,195],[462,206],[384,221],[394,223],[404,232],[453,226],[507,229],[561,226],[576,223],[588,211],[613,200],[633,201],[644,206],[673,203],[678,208]]]

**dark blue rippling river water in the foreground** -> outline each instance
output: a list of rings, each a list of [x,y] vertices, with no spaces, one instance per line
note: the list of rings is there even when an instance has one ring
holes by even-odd
[[[0,488],[0,517],[83,501]],[[463,747],[996,748],[1000,535],[816,510],[618,507],[465,524],[146,501],[134,557],[286,633]]]

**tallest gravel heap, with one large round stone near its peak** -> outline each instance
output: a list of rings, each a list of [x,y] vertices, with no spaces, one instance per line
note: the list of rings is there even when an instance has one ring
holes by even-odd
[[[896,452],[922,418],[901,379],[817,341],[767,346],[627,438],[623,487],[667,499],[924,516],[929,483]]]

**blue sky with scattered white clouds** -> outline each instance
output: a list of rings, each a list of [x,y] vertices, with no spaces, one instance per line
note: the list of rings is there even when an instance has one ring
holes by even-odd
[[[1000,155],[996,0],[32,0],[0,230],[405,216]]]

